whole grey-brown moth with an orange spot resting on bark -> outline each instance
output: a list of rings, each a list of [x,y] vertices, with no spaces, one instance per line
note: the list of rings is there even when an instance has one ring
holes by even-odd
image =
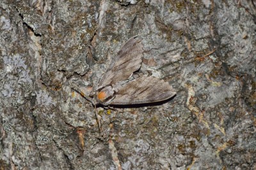
[[[152,76],[140,76],[132,81],[141,67],[143,45],[137,36],[129,39],[117,53],[95,90],[86,97],[93,105],[128,105],[164,101],[175,96],[172,86]]]

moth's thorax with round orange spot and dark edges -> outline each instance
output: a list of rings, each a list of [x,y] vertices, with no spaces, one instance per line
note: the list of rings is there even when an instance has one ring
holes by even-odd
[[[114,94],[115,94],[115,91],[113,90],[113,87],[109,85],[100,90],[97,90],[97,92],[95,93],[95,98],[97,99],[97,101],[99,101],[99,103],[103,105],[108,105],[109,102],[112,99],[114,99],[115,97]]]

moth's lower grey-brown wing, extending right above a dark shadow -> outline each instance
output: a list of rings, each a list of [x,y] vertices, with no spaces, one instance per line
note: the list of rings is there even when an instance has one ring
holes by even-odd
[[[173,97],[175,90],[169,83],[150,76],[141,76],[118,90],[111,104],[143,104],[164,101]]]

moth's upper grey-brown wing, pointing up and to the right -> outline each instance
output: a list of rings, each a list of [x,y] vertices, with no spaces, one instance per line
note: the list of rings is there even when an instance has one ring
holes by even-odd
[[[117,53],[97,89],[127,80],[134,71],[140,69],[142,57],[143,45],[137,37],[132,37]]]

